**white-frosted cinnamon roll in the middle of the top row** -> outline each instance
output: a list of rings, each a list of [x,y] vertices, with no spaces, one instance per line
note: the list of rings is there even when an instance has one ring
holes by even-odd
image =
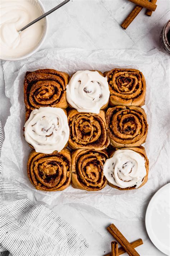
[[[107,107],[109,100],[107,78],[100,71],[77,71],[66,87],[66,98],[78,112],[99,114]]]

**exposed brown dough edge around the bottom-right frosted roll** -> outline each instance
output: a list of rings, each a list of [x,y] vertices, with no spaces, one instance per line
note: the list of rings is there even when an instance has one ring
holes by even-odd
[[[124,150],[124,149],[131,149],[137,153],[139,153],[142,157],[145,158],[145,167],[146,167],[146,176],[143,178],[143,181],[142,181],[142,184],[140,185],[140,187],[138,188],[141,188],[143,185],[145,185],[145,183],[147,182],[148,180],[148,172],[149,172],[149,160],[146,156],[146,151],[145,151],[145,148],[140,146],[140,147],[132,147],[132,148],[115,148],[115,150],[112,151],[112,153],[110,154],[110,157],[113,156],[114,152],[118,149],[121,149],[121,150]],[[128,188],[119,188],[113,184],[111,184],[110,182],[108,182],[108,185],[112,188],[116,188],[116,189],[119,189],[119,190],[131,190],[131,189],[136,189],[135,187],[136,186],[133,186],[133,187],[128,187]]]

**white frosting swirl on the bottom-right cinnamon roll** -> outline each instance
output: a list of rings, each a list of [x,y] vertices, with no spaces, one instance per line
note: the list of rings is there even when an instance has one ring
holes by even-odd
[[[138,188],[146,176],[145,159],[131,149],[119,149],[105,161],[103,172],[109,183],[119,188]]]

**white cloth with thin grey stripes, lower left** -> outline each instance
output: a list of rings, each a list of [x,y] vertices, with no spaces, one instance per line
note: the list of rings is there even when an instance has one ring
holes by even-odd
[[[0,121],[0,153],[2,144]],[[88,247],[75,228],[0,175],[0,256],[80,256]]]

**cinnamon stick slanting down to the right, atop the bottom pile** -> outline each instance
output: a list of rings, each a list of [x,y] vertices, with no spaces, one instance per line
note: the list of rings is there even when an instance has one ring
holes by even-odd
[[[108,226],[107,230],[111,235],[113,235],[113,237],[119,242],[119,244],[121,244],[121,246],[128,253],[128,255],[140,256],[114,224],[111,224],[110,226]]]

